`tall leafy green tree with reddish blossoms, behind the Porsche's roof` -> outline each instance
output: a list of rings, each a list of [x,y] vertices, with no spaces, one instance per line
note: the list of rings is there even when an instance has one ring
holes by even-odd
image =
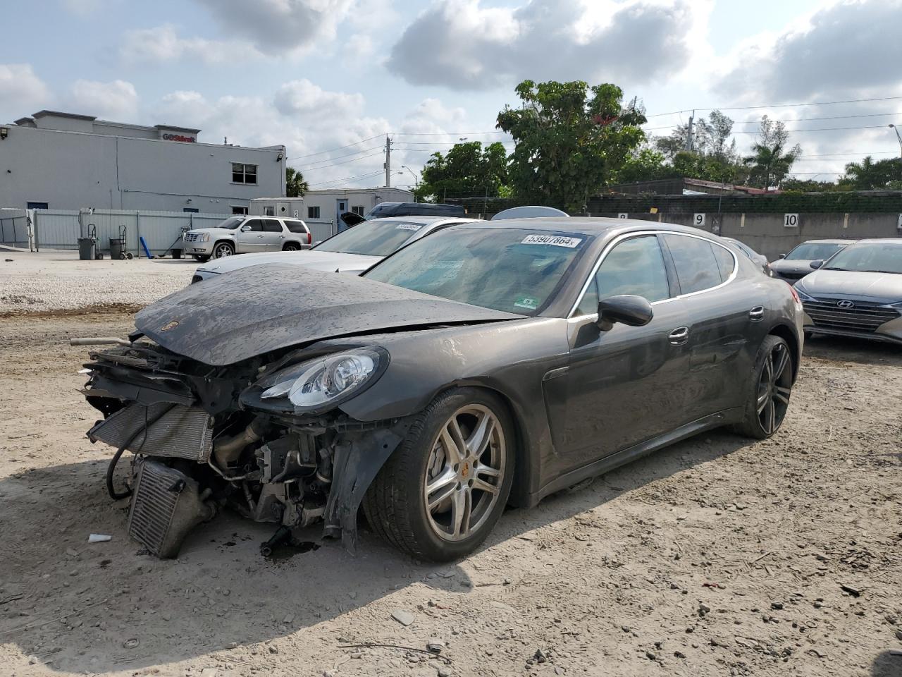
[[[622,105],[621,88],[585,82],[524,80],[521,106],[505,107],[498,128],[511,134],[511,187],[516,198],[571,212],[612,181],[645,134],[635,99]]]

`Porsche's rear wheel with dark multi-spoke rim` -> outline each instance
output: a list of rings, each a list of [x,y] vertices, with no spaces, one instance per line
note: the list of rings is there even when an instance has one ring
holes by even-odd
[[[733,430],[755,440],[769,438],[780,428],[793,385],[793,355],[785,340],[769,335],[758,348],[742,421]]]

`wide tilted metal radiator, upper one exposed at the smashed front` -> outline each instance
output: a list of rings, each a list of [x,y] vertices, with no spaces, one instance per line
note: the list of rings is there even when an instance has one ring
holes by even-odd
[[[152,422],[146,433],[141,432],[145,422],[153,421],[168,407],[172,407],[170,411]],[[87,437],[118,448],[135,433],[127,447],[133,453],[206,463],[213,450],[212,418],[203,409],[184,404],[154,403],[148,407],[129,404],[106,421],[97,423],[87,431]]]

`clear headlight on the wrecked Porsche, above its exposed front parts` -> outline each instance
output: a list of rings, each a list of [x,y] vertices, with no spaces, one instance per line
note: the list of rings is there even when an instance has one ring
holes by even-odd
[[[334,406],[360,393],[388,366],[382,348],[354,348],[281,369],[265,378],[262,400],[287,399],[296,412]]]

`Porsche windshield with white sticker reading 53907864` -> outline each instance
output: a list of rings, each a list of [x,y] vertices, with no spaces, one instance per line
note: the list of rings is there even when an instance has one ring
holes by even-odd
[[[526,228],[456,227],[424,237],[364,277],[496,311],[534,315],[589,240]]]

